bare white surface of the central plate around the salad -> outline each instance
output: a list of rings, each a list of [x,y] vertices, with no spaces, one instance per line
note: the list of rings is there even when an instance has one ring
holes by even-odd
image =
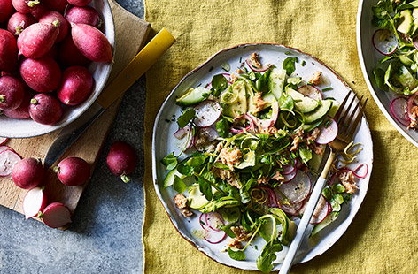
[[[155,121],[152,139],[152,175],[155,190],[159,199],[163,203],[174,227],[178,230],[178,232],[180,232],[184,239],[188,240],[194,247],[197,247],[198,250],[213,258],[216,262],[243,270],[257,270],[255,261],[259,256],[261,247],[265,244],[264,240],[257,240],[252,247],[245,251],[247,260],[238,262],[230,259],[228,253],[220,252],[224,249],[228,240],[224,240],[220,244],[213,245],[203,239],[197,238],[193,232],[201,229],[198,224],[198,215],[195,214],[195,216],[190,219],[184,218],[180,214],[179,210],[175,208],[173,202],[175,194],[174,190],[172,187],[166,189],[162,187],[163,179],[166,176],[166,168],[163,164],[160,164],[160,160],[173,151],[175,151],[176,155],[178,155],[179,152],[179,141],[173,137],[173,133],[178,129],[177,125],[175,122],[167,122],[167,119],[172,119],[173,115],[178,117],[181,113],[181,108],[175,104],[176,96],[181,95],[189,88],[197,87],[199,84],[205,85],[210,82],[213,75],[222,72],[220,65],[224,62],[228,62],[231,65],[232,71],[235,71],[235,68],[240,65],[240,61],[245,60],[245,58],[249,57],[252,52],[259,53],[260,57],[262,57],[263,64],[282,65],[283,60],[286,57],[298,57],[299,63],[297,65],[296,73],[302,76],[303,79],[307,80],[314,72],[321,71],[323,73],[325,83],[319,86],[319,88],[332,87],[333,90],[326,92],[325,95],[328,97],[334,97],[339,102],[344,99],[344,96],[350,90],[348,85],[337,75],[336,72],[330,69],[327,65],[321,63],[320,60],[300,52],[298,49],[290,49],[285,46],[275,44],[244,44],[230,49],[221,50],[213,57],[209,58],[205,64],[200,65],[195,70],[187,74],[174,88],[172,93],[168,95],[166,102],[163,103]],[[303,60],[306,61],[305,66],[300,65]],[[329,247],[331,247],[343,235],[360,208],[360,204],[368,190],[368,180],[373,162],[373,143],[368,129],[368,123],[365,118],[361,121],[358,133],[356,133],[355,136],[355,141],[364,144],[364,150],[360,154],[359,162],[368,164],[368,176],[365,179],[360,180],[360,191],[353,195],[349,206],[344,207],[340,216],[337,218],[337,221],[329,225],[321,232],[319,240],[316,244],[307,242],[307,240],[302,244],[298,255],[298,262],[309,261],[314,258],[314,256],[321,255],[329,249]],[[255,245],[259,247],[258,250],[255,250]],[[276,262],[278,264],[275,265],[275,270],[280,268],[280,261],[283,260],[285,253],[285,249],[278,253],[278,259]]]

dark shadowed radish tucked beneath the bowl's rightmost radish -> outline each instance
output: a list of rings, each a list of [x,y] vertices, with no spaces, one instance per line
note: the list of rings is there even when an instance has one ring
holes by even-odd
[[[91,62],[88,58],[84,57],[80,50],[77,49],[73,42],[73,37],[66,36],[63,42],[61,42],[58,49],[59,62],[62,65],[89,65]]]

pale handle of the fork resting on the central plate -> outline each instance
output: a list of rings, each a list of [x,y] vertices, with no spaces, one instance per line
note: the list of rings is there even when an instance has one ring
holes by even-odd
[[[321,172],[320,178],[316,181],[314,190],[312,191],[311,197],[309,198],[309,201],[307,202],[304,215],[302,219],[300,220],[300,223],[298,225],[298,230],[296,231],[295,239],[291,241],[289,251],[286,257],[284,258],[282,267],[280,268],[280,271],[279,271],[280,274],[289,273],[293,260],[295,259],[296,253],[298,252],[298,248],[300,247],[300,244],[302,243],[302,241],[305,239],[306,228],[309,225],[309,221],[311,220],[311,217],[314,215],[316,204],[321,198],[322,188],[327,183],[328,172],[329,172],[332,162],[334,162],[335,156],[336,156],[335,153],[331,150],[331,153],[329,154],[329,157],[327,159],[327,163],[325,164]]]

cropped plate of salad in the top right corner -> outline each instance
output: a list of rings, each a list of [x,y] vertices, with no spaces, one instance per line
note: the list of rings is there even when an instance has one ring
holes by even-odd
[[[375,103],[418,147],[418,1],[360,1],[357,48]]]

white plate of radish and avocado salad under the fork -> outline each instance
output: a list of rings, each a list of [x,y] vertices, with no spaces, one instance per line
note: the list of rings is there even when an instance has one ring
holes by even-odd
[[[153,180],[174,227],[216,262],[279,270],[350,91],[298,49],[243,44],[187,74],[154,125]],[[297,261],[345,232],[368,190],[373,143],[365,118],[338,156]]]

